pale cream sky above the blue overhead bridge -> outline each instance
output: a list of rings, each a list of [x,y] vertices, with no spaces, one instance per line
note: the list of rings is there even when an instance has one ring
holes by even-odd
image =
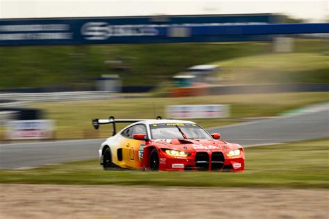
[[[0,0],[1,18],[280,13],[328,21],[329,0]]]

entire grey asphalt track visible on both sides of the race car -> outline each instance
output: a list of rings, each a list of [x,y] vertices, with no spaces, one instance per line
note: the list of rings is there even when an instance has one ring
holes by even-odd
[[[262,146],[329,137],[329,104],[299,114],[211,128],[221,139],[242,146]],[[104,139],[43,141],[0,145],[1,169],[24,169],[65,161],[95,159]]]

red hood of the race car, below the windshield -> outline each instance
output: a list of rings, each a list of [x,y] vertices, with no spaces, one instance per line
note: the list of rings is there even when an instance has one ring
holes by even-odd
[[[229,151],[241,146],[226,141],[214,139],[161,139],[155,140],[160,148],[170,148],[174,150],[222,150]]]

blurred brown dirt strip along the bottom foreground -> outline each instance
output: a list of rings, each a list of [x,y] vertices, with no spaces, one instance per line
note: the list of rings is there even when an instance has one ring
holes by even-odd
[[[0,185],[0,218],[328,218],[329,191]]]

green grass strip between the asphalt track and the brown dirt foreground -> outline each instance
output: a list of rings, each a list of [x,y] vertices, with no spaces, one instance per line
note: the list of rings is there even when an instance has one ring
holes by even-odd
[[[0,170],[0,183],[151,186],[287,187],[329,189],[329,140],[246,148],[244,173],[103,171],[75,161],[31,170]]]

